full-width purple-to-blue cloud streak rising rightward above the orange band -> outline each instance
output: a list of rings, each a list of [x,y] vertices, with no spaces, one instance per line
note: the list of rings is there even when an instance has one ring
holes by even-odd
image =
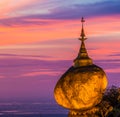
[[[76,20],[81,16],[85,17],[100,17],[120,14],[120,1],[105,1],[91,4],[73,4],[71,7],[56,7],[50,10],[49,13],[33,13],[26,16],[0,19],[0,24],[3,26],[16,25],[47,25],[53,23],[54,20]],[[34,5],[37,5],[35,2]],[[40,5],[40,4],[39,4]],[[38,5],[37,5],[38,6]],[[53,20],[53,22],[50,22]]]

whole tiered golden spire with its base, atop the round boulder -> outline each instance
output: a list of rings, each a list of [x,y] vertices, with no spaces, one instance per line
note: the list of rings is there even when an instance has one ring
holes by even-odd
[[[81,40],[81,47],[78,53],[77,58],[74,60],[74,66],[80,67],[80,66],[88,66],[92,65],[92,59],[89,58],[87,50],[85,48],[84,41],[87,39],[84,32],[84,18],[82,17],[81,23],[82,23],[82,29],[79,40]]]

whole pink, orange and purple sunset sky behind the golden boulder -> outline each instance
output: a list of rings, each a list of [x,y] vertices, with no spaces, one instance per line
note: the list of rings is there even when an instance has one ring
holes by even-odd
[[[120,0],[0,0],[0,99],[53,99],[73,65],[84,17],[86,48],[120,86]]]

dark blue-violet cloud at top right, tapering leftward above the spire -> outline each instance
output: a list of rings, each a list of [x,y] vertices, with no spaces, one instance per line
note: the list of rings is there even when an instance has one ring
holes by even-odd
[[[44,19],[80,19],[81,16],[96,17],[117,15],[120,13],[120,1],[106,1],[87,5],[74,5],[71,8],[55,9],[50,15],[36,15],[32,17]]]

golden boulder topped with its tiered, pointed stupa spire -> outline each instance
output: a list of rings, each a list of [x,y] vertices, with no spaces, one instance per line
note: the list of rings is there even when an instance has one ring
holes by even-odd
[[[81,47],[74,65],[59,79],[54,89],[56,102],[70,110],[85,111],[100,103],[107,87],[106,74],[102,68],[93,64],[85,48],[87,39],[82,30],[79,40]]]

